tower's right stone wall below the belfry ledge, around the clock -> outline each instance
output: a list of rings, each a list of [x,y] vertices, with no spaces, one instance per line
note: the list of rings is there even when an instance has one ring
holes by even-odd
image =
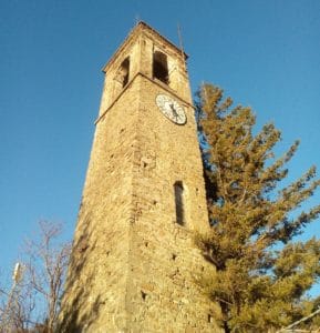
[[[198,281],[214,274],[194,244],[194,230],[205,231],[208,218],[203,169],[193,109],[177,125],[157,109],[162,84],[138,78],[137,149],[133,193],[135,222],[131,225],[126,292],[128,332],[218,332],[213,309]],[[186,225],[176,223],[174,183],[185,188]]]

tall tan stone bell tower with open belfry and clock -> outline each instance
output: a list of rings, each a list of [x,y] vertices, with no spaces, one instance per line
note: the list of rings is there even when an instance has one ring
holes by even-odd
[[[140,22],[104,67],[59,332],[218,332],[186,54]]]

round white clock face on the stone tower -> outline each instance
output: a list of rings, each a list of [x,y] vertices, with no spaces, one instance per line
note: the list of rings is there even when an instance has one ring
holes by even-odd
[[[162,113],[171,121],[177,124],[186,123],[186,113],[180,104],[166,94],[158,94],[156,97],[156,104]]]

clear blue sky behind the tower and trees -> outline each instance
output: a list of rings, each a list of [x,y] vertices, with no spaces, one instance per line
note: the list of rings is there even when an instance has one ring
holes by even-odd
[[[320,168],[320,1],[0,1],[0,269],[8,271],[41,219],[72,236],[103,74],[136,19],[189,54],[202,81],[250,105],[258,127],[296,139],[289,180]],[[306,205],[320,202],[319,191]],[[319,233],[319,222],[306,238]]]

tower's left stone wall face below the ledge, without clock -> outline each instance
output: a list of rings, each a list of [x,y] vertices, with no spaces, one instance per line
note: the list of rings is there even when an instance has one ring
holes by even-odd
[[[59,332],[126,326],[137,88],[128,88],[96,125]]]

